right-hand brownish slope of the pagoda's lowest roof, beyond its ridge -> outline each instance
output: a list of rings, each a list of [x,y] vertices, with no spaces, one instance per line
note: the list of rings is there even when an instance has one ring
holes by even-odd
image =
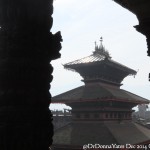
[[[150,139],[150,130],[145,127],[139,129],[136,123],[107,122],[105,125],[108,127],[109,131],[112,133],[119,144],[138,144]],[[146,130],[147,134],[145,134],[143,130]]]

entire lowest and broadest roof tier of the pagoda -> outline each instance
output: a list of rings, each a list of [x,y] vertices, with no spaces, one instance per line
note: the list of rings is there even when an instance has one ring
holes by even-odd
[[[150,130],[131,121],[72,122],[55,131],[53,144],[83,146],[88,143],[101,145],[138,144],[150,139]],[[57,147],[57,146],[56,146]]]

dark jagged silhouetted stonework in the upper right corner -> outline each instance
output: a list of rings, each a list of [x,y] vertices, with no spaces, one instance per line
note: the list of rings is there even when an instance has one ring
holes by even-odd
[[[137,16],[139,25],[136,30],[146,36],[147,55],[150,56],[150,0],[114,0],[122,7],[128,9]],[[150,74],[149,74],[150,81]]]

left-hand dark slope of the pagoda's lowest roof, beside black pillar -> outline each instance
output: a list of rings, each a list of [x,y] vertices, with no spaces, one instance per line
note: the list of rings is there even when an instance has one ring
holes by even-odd
[[[70,123],[55,131],[53,144],[111,144],[117,141],[103,123]]]

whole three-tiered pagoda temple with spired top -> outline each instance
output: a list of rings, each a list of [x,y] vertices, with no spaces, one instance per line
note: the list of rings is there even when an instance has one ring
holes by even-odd
[[[136,71],[114,60],[101,43],[82,59],[64,64],[78,72],[85,85],[52,98],[72,108],[72,122],[54,134],[54,150],[78,150],[85,144],[138,144],[150,139],[150,130],[132,122],[132,108],[149,100],[120,88]]]

